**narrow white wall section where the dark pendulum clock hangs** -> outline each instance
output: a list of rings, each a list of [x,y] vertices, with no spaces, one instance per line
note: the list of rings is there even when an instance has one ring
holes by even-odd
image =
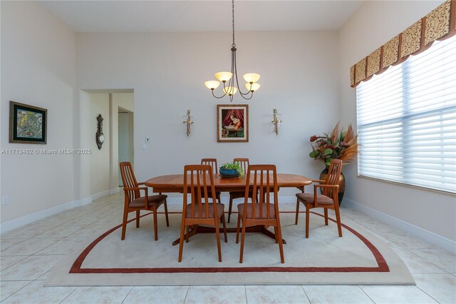
[[[105,141],[98,150],[95,141],[95,133],[98,130],[98,115],[103,117],[103,135]],[[90,94],[90,118],[88,119],[90,128],[86,136],[92,138],[90,141],[90,194],[103,193],[110,191],[110,106],[109,94],[91,93]]]

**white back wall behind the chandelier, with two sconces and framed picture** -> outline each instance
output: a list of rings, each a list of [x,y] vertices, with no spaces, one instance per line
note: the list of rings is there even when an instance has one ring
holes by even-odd
[[[249,143],[217,143],[217,100],[204,81],[230,66],[231,34],[78,34],[80,88],[135,91],[135,173],[138,181],[181,173],[188,163],[249,157],[279,172],[318,176],[309,137],[330,131],[339,118],[337,34],[334,31],[239,32],[239,73],[262,75],[249,104]],[[235,96],[234,104],[246,103]],[[283,113],[279,136],[272,109]],[[195,123],[186,136],[182,116]],[[150,136],[147,149],[141,143]],[[281,191],[293,196],[296,191]]]

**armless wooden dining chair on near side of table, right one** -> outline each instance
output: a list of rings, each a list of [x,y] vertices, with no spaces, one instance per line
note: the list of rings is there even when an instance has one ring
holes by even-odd
[[[252,196],[252,203],[247,203],[250,193],[250,181],[253,179],[253,193],[259,191],[257,196]],[[272,191],[272,192],[271,192]],[[280,261],[285,263],[282,233],[279,218],[279,197],[277,192],[277,173],[274,165],[250,165],[247,169],[246,187],[244,191],[244,203],[237,205],[237,230],[236,243],[239,242],[239,229],[242,224],[241,253],[239,263],[242,263],[244,255],[245,230],[251,226],[273,226],[276,235],[276,243],[279,243]],[[271,201],[271,193],[273,201]]]

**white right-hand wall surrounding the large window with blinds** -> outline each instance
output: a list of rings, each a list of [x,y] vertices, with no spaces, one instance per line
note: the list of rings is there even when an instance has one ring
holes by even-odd
[[[343,123],[356,124],[356,89],[350,87],[350,66],[418,21],[441,2],[366,1],[341,28],[338,49]],[[346,169],[346,198],[431,233],[456,240],[454,195],[361,178],[357,176],[356,164]]]

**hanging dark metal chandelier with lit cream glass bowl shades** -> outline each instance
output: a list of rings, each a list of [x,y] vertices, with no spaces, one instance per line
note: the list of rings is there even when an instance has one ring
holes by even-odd
[[[236,43],[234,42],[234,0],[232,0],[232,17],[233,17],[233,44],[231,46],[231,71],[229,72],[218,72],[215,74],[215,78],[217,80],[209,80],[204,82],[204,85],[212,91],[212,95],[215,98],[222,98],[224,96],[229,96],[229,101],[233,101],[233,96],[235,93],[239,91],[242,98],[244,99],[251,99],[254,95],[254,91],[257,91],[260,87],[257,81],[259,80],[259,74],[256,73],[247,73],[244,74],[243,78],[246,81],[245,88],[247,88],[247,92],[243,92],[241,88],[239,88],[239,81],[237,78],[237,67],[236,67]],[[216,96],[214,94],[214,90],[219,87],[220,81],[223,83],[223,95]],[[228,83],[227,83],[228,82]]]

